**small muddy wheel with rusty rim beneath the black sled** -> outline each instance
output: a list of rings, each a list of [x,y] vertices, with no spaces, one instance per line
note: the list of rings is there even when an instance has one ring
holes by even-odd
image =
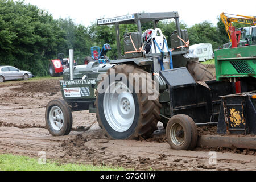
[[[195,122],[188,115],[175,115],[167,124],[166,138],[172,149],[193,150],[197,143]]]

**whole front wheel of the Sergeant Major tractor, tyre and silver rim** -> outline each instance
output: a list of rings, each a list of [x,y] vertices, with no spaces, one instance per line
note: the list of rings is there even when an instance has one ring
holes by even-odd
[[[46,126],[53,136],[68,135],[72,129],[71,108],[64,100],[56,99],[46,107]]]

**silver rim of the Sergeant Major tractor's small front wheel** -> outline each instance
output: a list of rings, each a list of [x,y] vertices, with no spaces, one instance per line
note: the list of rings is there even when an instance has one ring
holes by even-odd
[[[52,109],[49,111],[49,121],[54,130],[60,131],[62,129],[64,123],[64,116],[60,107],[52,107]]]

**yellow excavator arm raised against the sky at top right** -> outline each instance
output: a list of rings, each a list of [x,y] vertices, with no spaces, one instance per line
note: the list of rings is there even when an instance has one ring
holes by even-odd
[[[233,14],[229,14],[233,15]],[[231,40],[231,35],[229,32],[229,27],[232,27],[232,22],[237,22],[237,23],[243,23],[243,24],[249,24],[249,25],[256,25],[256,17],[255,16],[243,16],[243,15],[234,15],[236,17],[228,17],[226,16],[226,13],[221,13],[220,18],[222,22],[224,23],[225,30],[228,33],[229,40]]]

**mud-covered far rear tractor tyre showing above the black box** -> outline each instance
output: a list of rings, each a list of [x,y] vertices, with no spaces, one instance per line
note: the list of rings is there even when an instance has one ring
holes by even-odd
[[[207,67],[198,61],[189,61],[187,63],[187,69],[195,81],[207,81],[214,79],[214,76],[207,70]]]

